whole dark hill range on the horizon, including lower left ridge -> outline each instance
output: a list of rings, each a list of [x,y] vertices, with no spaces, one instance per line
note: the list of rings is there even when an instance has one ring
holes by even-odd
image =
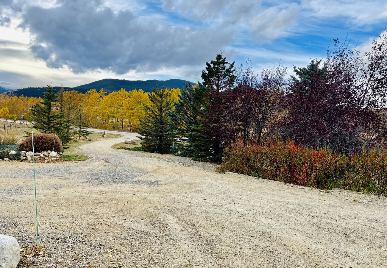
[[[181,80],[181,79],[170,79],[170,80],[125,80],[125,79],[102,79],[95,82],[91,82],[89,84],[84,84],[81,86],[76,86],[75,88],[69,88],[69,87],[63,87],[67,91],[76,90],[80,93],[86,93],[86,91],[90,89],[97,89],[98,91],[103,88],[104,90],[108,92],[118,91],[122,88],[125,88],[126,91],[131,91],[133,89],[142,89],[146,92],[151,92],[152,89],[157,85],[159,88],[166,87],[166,88],[183,88],[183,86],[186,83],[190,83],[194,85],[195,83]],[[60,90],[59,86],[53,87],[55,92],[58,92]],[[26,97],[41,97],[43,98],[43,95],[46,92],[46,87],[41,88],[21,88],[13,91],[8,91],[6,94],[12,95],[12,96],[26,96]],[[0,93],[2,93],[0,91]]]

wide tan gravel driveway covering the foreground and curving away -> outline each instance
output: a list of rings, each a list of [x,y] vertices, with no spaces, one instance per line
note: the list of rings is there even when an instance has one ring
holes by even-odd
[[[323,192],[111,149],[38,164],[27,267],[386,267],[387,198]],[[29,163],[0,162],[0,233],[32,245]],[[111,257],[110,257],[111,256]]]

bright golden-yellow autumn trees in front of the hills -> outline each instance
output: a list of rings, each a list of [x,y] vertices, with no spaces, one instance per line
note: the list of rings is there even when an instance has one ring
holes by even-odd
[[[170,91],[171,103],[178,101],[180,89],[173,88]],[[111,93],[106,93],[104,89],[100,91],[91,89],[86,94],[73,90],[62,91],[58,95],[59,100],[55,105],[58,112],[64,112],[65,118],[71,120],[75,111],[82,109],[86,115],[87,125],[97,129],[127,131],[127,125],[132,124],[131,131],[137,132],[140,120],[145,117],[143,105],[151,105],[149,93],[142,89],[128,92],[122,88]],[[24,118],[28,120],[29,108],[40,101],[41,98],[0,94],[0,118],[15,114],[17,119],[21,119],[21,115],[24,114]]]

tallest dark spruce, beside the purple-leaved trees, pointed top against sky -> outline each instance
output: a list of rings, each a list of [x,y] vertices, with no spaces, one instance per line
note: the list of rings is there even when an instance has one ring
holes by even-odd
[[[221,92],[233,88],[236,75],[234,62],[230,64],[221,54],[217,54],[216,59],[206,65],[202,71],[203,83],[198,83],[194,93],[198,125],[194,126],[191,134],[191,149],[195,160],[199,159],[201,154],[202,160],[219,162],[224,149]]]

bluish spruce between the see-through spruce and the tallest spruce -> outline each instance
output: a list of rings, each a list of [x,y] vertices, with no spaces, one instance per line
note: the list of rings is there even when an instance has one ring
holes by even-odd
[[[180,90],[180,100],[175,102],[175,110],[168,112],[171,118],[171,136],[175,138],[175,152],[189,157],[192,157],[193,128],[198,124],[194,92],[192,84],[186,84]]]

